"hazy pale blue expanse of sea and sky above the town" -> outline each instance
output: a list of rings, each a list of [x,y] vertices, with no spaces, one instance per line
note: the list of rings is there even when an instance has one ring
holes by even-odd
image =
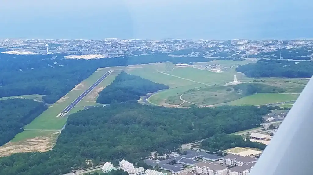
[[[310,0],[15,1],[0,6],[0,38],[313,38]]]

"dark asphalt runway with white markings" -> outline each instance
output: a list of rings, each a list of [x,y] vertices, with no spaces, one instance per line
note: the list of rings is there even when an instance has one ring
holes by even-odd
[[[71,109],[77,105],[80,100],[82,100],[88,93],[90,93],[97,85],[99,85],[107,76],[109,76],[113,70],[107,71],[104,75],[102,75],[93,85],[91,85],[87,90],[85,90],[79,97],[77,97],[71,104],[69,104],[63,111],[57,115],[57,117],[64,117]]]

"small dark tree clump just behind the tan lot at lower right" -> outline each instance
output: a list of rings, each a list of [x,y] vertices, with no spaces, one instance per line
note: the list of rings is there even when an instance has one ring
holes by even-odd
[[[228,135],[225,133],[216,134],[213,137],[205,139],[201,142],[201,148],[208,150],[210,153],[224,151],[235,147],[259,148],[260,150],[264,150],[266,145],[263,143],[252,142],[249,139],[244,141],[244,138],[240,135]]]

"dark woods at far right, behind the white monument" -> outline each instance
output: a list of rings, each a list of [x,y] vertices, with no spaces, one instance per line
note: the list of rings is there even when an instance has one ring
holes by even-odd
[[[236,71],[248,77],[309,78],[313,75],[313,62],[262,59],[256,63],[239,66]]]

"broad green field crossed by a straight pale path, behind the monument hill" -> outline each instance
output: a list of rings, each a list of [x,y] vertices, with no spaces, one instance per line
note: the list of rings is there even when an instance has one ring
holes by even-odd
[[[249,63],[251,61],[225,61],[215,60],[208,63],[195,63],[199,65],[210,64],[218,65],[223,72],[212,72],[209,70],[200,70],[195,67],[175,67],[172,63],[156,63],[146,65],[128,66],[125,71],[129,74],[138,75],[148,80],[169,85],[170,89],[160,91],[149,98],[149,102],[154,105],[163,105],[165,100],[171,96],[181,95],[183,92],[203,87],[207,85],[220,85],[233,81],[236,75],[238,80],[252,80],[243,74],[235,71],[236,66]],[[175,100],[174,104],[180,104],[182,101]]]

